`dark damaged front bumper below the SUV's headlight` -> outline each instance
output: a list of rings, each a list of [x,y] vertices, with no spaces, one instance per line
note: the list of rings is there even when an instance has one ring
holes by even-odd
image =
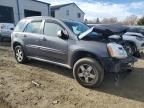
[[[105,58],[103,59],[103,66],[105,72],[125,72],[132,68],[132,65],[137,61],[137,59],[133,56],[127,57],[126,59],[113,59],[113,58]]]

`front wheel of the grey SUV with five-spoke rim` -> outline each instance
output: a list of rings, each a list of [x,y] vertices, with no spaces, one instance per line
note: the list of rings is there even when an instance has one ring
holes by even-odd
[[[74,78],[84,87],[98,87],[103,81],[104,70],[93,58],[82,58],[74,64]]]

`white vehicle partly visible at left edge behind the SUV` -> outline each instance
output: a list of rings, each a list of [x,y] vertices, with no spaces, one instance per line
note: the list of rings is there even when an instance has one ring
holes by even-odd
[[[11,33],[14,30],[14,24],[12,23],[0,23],[0,40],[11,39]]]

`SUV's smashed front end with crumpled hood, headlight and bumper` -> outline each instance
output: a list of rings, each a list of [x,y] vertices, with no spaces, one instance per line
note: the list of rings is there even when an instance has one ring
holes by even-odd
[[[101,30],[101,31],[100,31]],[[92,32],[102,32],[105,36],[92,36]],[[91,37],[92,41],[104,41],[107,43],[107,49],[109,56],[108,58],[103,58],[101,61],[103,62],[103,67],[106,72],[120,73],[126,71],[132,71],[133,65],[137,61],[137,58],[129,55],[124,46],[119,43],[111,42],[108,40],[108,37],[114,36],[112,32],[96,29],[95,27],[90,28],[86,32],[79,35],[79,39],[84,39],[86,37]],[[100,39],[101,38],[101,39]],[[117,37],[114,37],[117,38]],[[87,38],[86,38],[87,39]],[[98,40],[100,39],[100,40]]]

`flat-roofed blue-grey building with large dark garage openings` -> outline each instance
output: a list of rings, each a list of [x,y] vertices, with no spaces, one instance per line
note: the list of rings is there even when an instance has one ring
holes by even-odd
[[[0,0],[0,23],[14,23],[29,16],[49,16],[50,4],[37,0]]]

